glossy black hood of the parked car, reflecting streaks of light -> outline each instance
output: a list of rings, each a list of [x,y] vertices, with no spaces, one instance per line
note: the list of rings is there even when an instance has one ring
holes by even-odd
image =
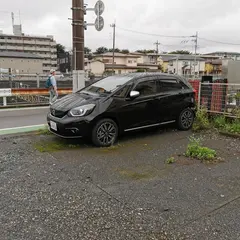
[[[80,107],[91,103],[97,103],[99,100],[99,96],[72,93],[56,101],[51,106],[51,109],[66,112],[75,107]]]

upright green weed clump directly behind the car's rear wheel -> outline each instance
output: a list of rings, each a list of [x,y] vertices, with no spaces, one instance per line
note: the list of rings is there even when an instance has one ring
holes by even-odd
[[[196,118],[193,123],[193,131],[206,130],[210,128],[210,122],[208,119],[208,113],[206,108],[197,110]]]

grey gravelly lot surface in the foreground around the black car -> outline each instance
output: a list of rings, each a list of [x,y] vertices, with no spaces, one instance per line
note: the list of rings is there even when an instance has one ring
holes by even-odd
[[[108,149],[1,137],[0,239],[240,239],[240,140],[202,135],[224,159],[204,164],[182,156],[191,135],[135,133]]]

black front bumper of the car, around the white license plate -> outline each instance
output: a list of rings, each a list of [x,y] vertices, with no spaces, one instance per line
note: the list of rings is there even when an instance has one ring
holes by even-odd
[[[54,123],[56,129],[52,128],[51,122]],[[82,138],[91,134],[91,124],[83,118],[68,116],[56,118],[49,113],[47,123],[49,131],[62,138]]]

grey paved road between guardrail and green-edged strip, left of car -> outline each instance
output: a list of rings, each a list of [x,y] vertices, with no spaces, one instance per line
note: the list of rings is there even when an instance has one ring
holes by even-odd
[[[0,110],[0,130],[46,124],[48,107]]]

